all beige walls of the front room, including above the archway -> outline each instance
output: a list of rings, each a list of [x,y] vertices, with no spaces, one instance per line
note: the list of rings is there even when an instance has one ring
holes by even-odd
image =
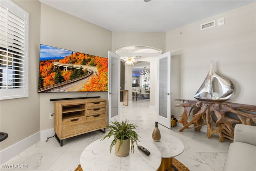
[[[256,3],[159,33],[110,32],[40,5],[39,1],[14,2],[29,12],[29,97],[0,101],[0,129],[9,134],[8,139],[0,143],[1,150],[54,127],[53,120],[49,119],[49,113],[54,111],[50,99],[87,95],[37,93],[40,43],[103,57],[107,57],[108,50],[114,52],[116,48],[129,45],[151,46],[163,53],[171,51],[172,90],[175,90],[172,99],[193,99],[208,73],[210,61],[214,60],[215,71],[234,84],[230,101],[256,105]],[[224,26],[200,31],[200,24],[222,17],[226,19]],[[107,99],[107,93],[89,93],[88,96]],[[172,110],[179,108],[172,107]],[[172,114],[180,115],[179,112]]]

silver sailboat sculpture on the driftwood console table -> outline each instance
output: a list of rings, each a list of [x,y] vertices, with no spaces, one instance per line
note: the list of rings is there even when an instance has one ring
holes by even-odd
[[[215,96],[212,91],[213,90],[212,89],[212,86],[213,86],[212,81],[214,78],[216,78],[218,80],[218,82],[220,83],[220,85],[222,87],[222,95],[220,95],[220,97]],[[230,80],[228,80],[227,78],[220,76],[220,74],[217,74],[216,72],[214,72],[214,70],[212,68],[212,62],[211,62],[211,66],[210,66],[208,75],[206,76],[201,87],[196,92],[194,98],[201,100],[201,101],[222,102],[222,101],[228,100],[231,97],[233,90],[234,90],[234,86],[233,86],[232,82],[230,82]],[[209,93],[211,97],[202,97],[202,95],[204,95],[205,93]]]

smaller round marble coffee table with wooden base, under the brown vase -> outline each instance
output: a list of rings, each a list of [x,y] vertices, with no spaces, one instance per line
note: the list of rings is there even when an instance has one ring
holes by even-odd
[[[162,162],[158,171],[170,170],[172,168],[172,158],[180,155],[184,151],[183,143],[168,133],[162,132],[161,139],[158,142],[152,139],[151,132],[141,133],[140,137],[142,137],[142,143],[153,143],[158,147],[162,156]]]

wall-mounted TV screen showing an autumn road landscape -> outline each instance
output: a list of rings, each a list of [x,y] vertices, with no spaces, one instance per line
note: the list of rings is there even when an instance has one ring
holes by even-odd
[[[38,92],[108,91],[108,59],[40,45]]]

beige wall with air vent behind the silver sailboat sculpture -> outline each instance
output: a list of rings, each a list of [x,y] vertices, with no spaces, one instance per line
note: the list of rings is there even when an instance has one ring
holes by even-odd
[[[234,84],[229,101],[256,105],[255,14],[256,3],[253,3],[166,32],[166,51],[171,51],[180,63],[176,68],[180,79],[172,78],[181,87],[174,99],[194,99],[213,60],[214,70]],[[225,25],[200,30],[200,24],[218,22],[223,17]],[[174,106],[172,109],[177,110]],[[178,117],[181,113],[172,111],[172,114]]]

